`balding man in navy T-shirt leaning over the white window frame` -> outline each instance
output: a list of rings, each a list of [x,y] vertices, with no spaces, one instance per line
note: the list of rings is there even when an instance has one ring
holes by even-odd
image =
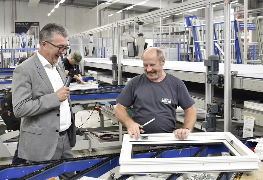
[[[144,72],[133,77],[116,98],[115,115],[128,130],[131,137],[138,139],[141,133],[173,133],[185,139],[196,122],[195,101],[179,78],[163,71],[164,53],[156,47],[147,48],[142,54]],[[127,109],[133,105],[132,118]],[[176,129],[176,109],[180,106],[185,113],[183,128]],[[139,126],[155,118],[140,129]]]

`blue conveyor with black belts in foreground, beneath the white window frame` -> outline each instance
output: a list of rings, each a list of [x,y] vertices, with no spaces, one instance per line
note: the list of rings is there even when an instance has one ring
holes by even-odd
[[[263,137],[263,136],[261,136]],[[254,137],[251,137],[254,138]],[[247,139],[240,139],[244,141],[247,147],[255,147],[257,142],[248,142]],[[207,156],[208,154],[215,154],[225,152],[226,147],[223,144],[209,144],[209,145],[184,145],[168,148],[160,148],[149,151],[135,151],[133,158],[170,158],[170,157],[198,157]],[[49,160],[43,162],[22,163],[13,165],[0,166],[0,180],[8,178],[24,179],[47,179],[56,177],[63,172],[77,171],[69,179],[74,180],[84,176],[99,178],[101,175],[112,171],[113,168],[119,166],[118,154],[105,154],[90,157],[78,157],[66,160]],[[187,172],[187,169],[186,169]],[[171,174],[171,177],[179,177],[180,174]],[[125,179],[131,175],[122,175],[118,179]],[[221,179],[221,178],[219,178]],[[222,178],[224,179],[224,178]]]

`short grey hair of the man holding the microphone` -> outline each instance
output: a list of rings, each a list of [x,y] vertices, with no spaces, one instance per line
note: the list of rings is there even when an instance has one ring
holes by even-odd
[[[68,34],[68,30],[64,26],[56,23],[48,23],[39,33],[39,43],[42,41],[52,42],[55,35],[61,35],[67,38]]]

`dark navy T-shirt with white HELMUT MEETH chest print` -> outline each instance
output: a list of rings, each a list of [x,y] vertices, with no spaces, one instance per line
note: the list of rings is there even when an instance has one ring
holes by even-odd
[[[144,126],[144,133],[169,133],[176,129],[176,109],[195,104],[185,84],[179,78],[166,73],[161,82],[152,82],[146,74],[135,76],[116,98],[125,107],[133,105],[132,119]]]

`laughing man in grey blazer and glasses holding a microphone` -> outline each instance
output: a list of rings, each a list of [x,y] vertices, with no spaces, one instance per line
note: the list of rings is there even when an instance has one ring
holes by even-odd
[[[76,127],[69,88],[63,87],[65,68],[59,61],[69,48],[67,36],[64,26],[46,24],[39,34],[38,51],[13,73],[14,114],[21,118],[18,157],[28,161],[73,157]]]

